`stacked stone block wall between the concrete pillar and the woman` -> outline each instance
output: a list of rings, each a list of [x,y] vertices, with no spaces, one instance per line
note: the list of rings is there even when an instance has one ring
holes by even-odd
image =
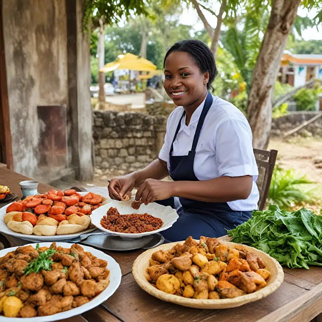
[[[95,167],[129,173],[157,158],[166,133],[166,117],[144,113],[94,111]]]

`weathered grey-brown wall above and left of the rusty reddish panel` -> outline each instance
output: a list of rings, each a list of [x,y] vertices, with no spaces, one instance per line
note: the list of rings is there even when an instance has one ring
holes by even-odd
[[[37,171],[37,105],[68,105],[65,0],[3,1],[14,170]]]

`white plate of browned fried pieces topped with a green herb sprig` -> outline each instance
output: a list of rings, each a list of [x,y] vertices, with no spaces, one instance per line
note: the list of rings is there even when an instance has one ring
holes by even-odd
[[[71,243],[30,244],[0,251],[0,321],[46,322],[106,301],[121,282],[118,263]]]

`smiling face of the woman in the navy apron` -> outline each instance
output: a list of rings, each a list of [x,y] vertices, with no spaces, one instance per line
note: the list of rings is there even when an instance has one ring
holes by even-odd
[[[189,106],[207,94],[209,72],[201,73],[188,53],[171,52],[164,72],[164,88],[175,105]]]

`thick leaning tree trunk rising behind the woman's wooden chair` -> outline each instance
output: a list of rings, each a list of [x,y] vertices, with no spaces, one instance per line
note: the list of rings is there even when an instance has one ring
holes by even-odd
[[[253,133],[253,147],[268,146],[272,123],[272,91],[280,60],[300,0],[274,0],[270,21],[253,72],[248,99],[248,120]]]

